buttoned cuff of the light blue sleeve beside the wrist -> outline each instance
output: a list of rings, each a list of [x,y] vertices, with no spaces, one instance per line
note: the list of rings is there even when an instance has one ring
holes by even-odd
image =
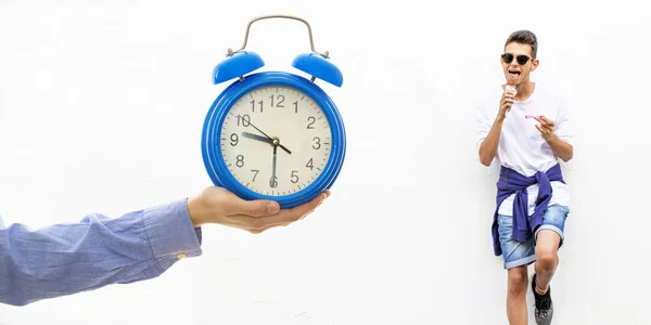
[[[155,258],[201,256],[201,227],[192,224],[187,198],[145,209],[143,222]]]

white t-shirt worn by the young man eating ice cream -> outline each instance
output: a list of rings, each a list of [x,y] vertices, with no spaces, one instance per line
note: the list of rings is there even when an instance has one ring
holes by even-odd
[[[477,142],[476,148],[488,135],[497,117],[499,103],[503,90],[498,86],[478,105],[477,108]],[[507,113],[502,123],[497,155],[495,159],[505,167],[511,168],[523,176],[532,177],[537,171],[547,171],[557,165],[560,159],[542,139],[536,129],[537,120],[525,118],[525,115],[544,115],[554,122],[553,132],[563,141],[572,144],[572,129],[570,126],[567,106],[563,98],[536,83],[534,92],[524,102],[515,101]],[[561,182],[551,182],[552,196],[549,205],[559,204],[570,206],[570,192],[567,185]],[[538,184],[527,188],[528,213],[533,214],[535,200],[538,196]],[[506,198],[498,209],[498,213],[512,216],[514,195]]]

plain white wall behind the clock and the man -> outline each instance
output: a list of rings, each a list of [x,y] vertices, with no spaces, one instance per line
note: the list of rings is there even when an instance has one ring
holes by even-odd
[[[158,278],[0,306],[0,324],[506,324],[497,167],[478,162],[474,109],[521,28],[539,37],[533,79],[566,92],[576,129],[554,324],[648,324],[642,1],[0,0],[5,224],[118,218],[210,185],[201,128],[226,87],[212,69],[271,13],[308,20],[344,73],[342,89],[319,82],[348,133],[327,204],[260,235],[206,226],[204,255]],[[247,49],[296,72],[306,28],[258,22]]]

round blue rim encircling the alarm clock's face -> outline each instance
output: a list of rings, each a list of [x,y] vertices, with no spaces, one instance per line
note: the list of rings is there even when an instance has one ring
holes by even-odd
[[[294,88],[310,96],[323,110],[332,133],[330,157],[323,171],[308,186],[282,196],[271,196],[254,192],[241,184],[230,172],[221,156],[221,128],[232,105],[254,89],[269,86]],[[263,72],[244,77],[229,84],[213,102],[202,131],[202,156],[206,171],[217,186],[225,187],[244,199],[270,199],[281,208],[292,208],[305,204],[337,179],[346,153],[346,135],[341,114],[332,99],[317,84],[301,76],[283,72]]]

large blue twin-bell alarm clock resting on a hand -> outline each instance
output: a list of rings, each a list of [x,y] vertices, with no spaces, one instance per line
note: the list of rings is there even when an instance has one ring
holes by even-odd
[[[254,70],[265,63],[246,47],[251,25],[291,18],[308,29],[312,53],[292,66],[310,79],[286,72]],[[213,183],[244,199],[272,199],[281,208],[309,202],[335,182],[346,152],[342,117],[317,78],[341,87],[343,75],[315,50],[311,28],[302,18],[268,15],[252,20],[241,49],[228,49],[213,70],[215,84],[231,79],[214,101],[203,126],[202,155]],[[253,73],[253,74],[252,74]]]

